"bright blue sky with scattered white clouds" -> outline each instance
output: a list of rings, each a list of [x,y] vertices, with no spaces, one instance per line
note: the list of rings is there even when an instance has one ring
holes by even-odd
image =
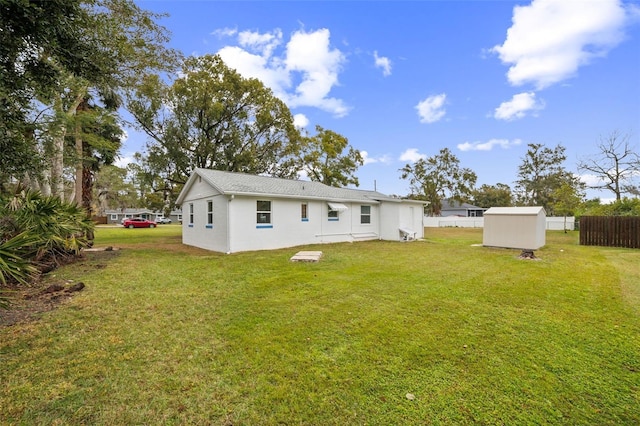
[[[301,129],[345,136],[361,189],[407,195],[399,169],[443,148],[512,189],[528,144],[564,146],[576,174],[613,132],[640,150],[637,0],[136,3],[168,14],[171,47],[220,54]],[[123,160],[146,144],[127,133]]]

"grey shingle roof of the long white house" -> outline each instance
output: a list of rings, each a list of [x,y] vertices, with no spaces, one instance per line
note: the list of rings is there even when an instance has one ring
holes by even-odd
[[[336,188],[320,182],[310,182],[294,179],[282,179],[270,176],[257,176],[246,173],[225,172],[197,168],[193,171],[176,200],[177,204],[184,201],[189,188],[197,176],[202,177],[209,185],[225,195],[270,196],[280,198],[322,199],[327,201],[354,201],[377,203],[414,202],[384,195],[377,191],[351,188]]]

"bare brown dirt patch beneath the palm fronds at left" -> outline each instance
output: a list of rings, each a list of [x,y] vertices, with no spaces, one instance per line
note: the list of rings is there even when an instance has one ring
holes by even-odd
[[[102,269],[117,256],[117,251],[92,251],[75,257],[72,261],[78,268],[78,274],[93,269]],[[87,284],[78,280],[56,280],[50,274],[42,275],[28,287],[0,286],[0,291],[8,297],[8,309],[0,308],[0,327],[36,320],[44,312],[56,309],[61,304],[82,292]]]

